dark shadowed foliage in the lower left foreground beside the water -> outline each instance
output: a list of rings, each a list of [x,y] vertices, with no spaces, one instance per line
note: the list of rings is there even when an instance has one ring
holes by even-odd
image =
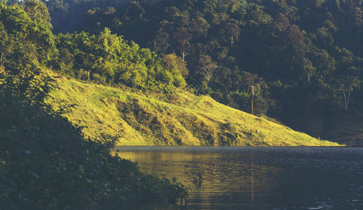
[[[0,209],[116,209],[175,203],[186,193],[4,92],[0,116]]]

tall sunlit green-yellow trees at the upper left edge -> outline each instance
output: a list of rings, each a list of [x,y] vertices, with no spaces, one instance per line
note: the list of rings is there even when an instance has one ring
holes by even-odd
[[[41,102],[52,89],[45,67],[55,50],[48,10],[43,3],[0,3],[0,83],[27,102]]]

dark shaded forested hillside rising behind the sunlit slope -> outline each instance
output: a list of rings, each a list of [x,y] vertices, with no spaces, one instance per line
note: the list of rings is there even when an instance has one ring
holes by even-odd
[[[158,55],[182,57],[189,69],[186,82],[199,94],[247,112],[253,99],[255,114],[315,136],[359,134],[347,131],[350,125],[329,136],[340,119],[362,112],[362,1],[122,3],[46,1],[55,31],[99,34],[108,27]],[[61,14],[83,22],[57,27],[70,21]]]

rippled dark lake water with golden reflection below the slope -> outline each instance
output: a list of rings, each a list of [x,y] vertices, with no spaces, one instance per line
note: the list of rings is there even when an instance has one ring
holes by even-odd
[[[116,149],[142,172],[176,176],[187,209],[363,209],[363,148]]]

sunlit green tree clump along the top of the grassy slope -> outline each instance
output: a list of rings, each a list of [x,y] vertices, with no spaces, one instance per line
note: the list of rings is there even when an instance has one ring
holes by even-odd
[[[53,58],[53,68],[73,78],[86,80],[90,71],[95,83],[161,92],[186,85],[177,66],[166,66],[163,57],[111,34],[107,28],[97,36],[85,32],[59,34],[56,43],[58,53]]]

